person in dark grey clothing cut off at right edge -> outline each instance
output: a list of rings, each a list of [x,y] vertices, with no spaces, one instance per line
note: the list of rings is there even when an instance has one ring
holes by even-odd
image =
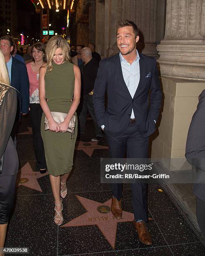
[[[190,123],[185,157],[198,172],[193,192],[196,195],[198,224],[205,239],[205,90],[199,96],[197,110]]]

